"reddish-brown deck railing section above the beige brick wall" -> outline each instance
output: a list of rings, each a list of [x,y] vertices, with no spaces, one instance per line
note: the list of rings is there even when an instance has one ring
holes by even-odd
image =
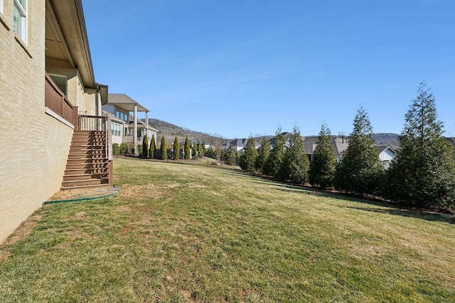
[[[48,109],[51,109],[55,114],[77,127],[77,124],[75,124],[77,123],[77,106],[71,104],[47,72],[45,73],[44,103]]]

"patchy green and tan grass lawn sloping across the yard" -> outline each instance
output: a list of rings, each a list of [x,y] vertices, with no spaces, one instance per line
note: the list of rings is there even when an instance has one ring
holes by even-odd
[[[0,302],[455,302],[453,218],[171,160],[114,183],[0,248]]]

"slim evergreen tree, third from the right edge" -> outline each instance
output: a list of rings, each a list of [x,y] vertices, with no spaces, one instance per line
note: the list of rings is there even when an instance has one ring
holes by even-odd
[[[331,132],[327,124],[323,123],[321,131],[319,131],[318,141],[316,141],[316,150],[314,150],[311,158],[309,182],[316,187],[332,187],[335,168],[336,159],[333,154]]]

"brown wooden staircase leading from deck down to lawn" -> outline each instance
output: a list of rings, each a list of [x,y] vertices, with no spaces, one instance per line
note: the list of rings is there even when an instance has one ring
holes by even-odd
[[[74,131],[62,189],[112,186],[106,140],[105,131]]]

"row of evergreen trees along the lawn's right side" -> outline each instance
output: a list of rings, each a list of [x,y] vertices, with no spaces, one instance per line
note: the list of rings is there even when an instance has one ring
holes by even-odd
[[[378,158],[373,128],[362,106],[355,115],[348,148],[338,163],[331,131],[323,123],[311,162],[304,152],[299,128],[294,126],[286,148],[279,127],[272,149],[267,138],[262,139],[259,151],[254,139],[248,139],[240,167],[279,180],[334,187],[362,197],[374,195],[409,206],[454,209],[455,150],[444,138],[443,128],[437,119],[435,99],[421,83],[405,115],[400,148],[387,170]]]

